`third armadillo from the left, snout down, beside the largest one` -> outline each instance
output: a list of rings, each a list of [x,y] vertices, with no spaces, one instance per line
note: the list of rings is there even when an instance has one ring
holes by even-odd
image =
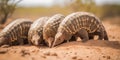
[[[62,14],[56,14],[52,16],[43,27],[43,39],[45,43],[50,47],[52,41],[54,40],[55,34],[57,33],[57,29],[59,24],[64,19]]]

